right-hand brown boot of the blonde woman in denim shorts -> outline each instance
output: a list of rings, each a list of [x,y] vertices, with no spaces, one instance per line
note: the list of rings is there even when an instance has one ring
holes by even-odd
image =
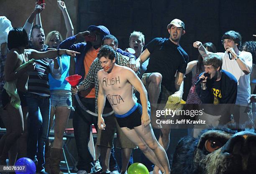
[[[51,148],[51,174],[64,174],[59,169],[61,157],[63,155],[63,149]]]

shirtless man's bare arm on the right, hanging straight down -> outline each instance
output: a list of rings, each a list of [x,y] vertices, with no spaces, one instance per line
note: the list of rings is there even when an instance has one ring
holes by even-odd
[[[150,123],[150,118],[148,115],[148,93],[146,88],[144,87],[141,80],[135,74],[135,72],[131,70],[126,70],[125,76],[127,80],[135,87],[135,89],[140,93],[141,106],[142,106],[142,116],[141,116],[141,124],[147,126]]]

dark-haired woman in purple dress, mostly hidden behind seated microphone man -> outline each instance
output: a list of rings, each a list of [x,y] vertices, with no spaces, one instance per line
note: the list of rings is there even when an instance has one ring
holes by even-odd
[[[203,44],[205,48],[210,52],[216,52],[216,48],[212,42],[206,42]],[[192,86],[189,90],[189,94],[187,96],[186,104],[201,104],[201,100],[195,92],[195,82],[197,80],[198,75],[205,70],[204,65],[202,64],[204,57],[200,54],[198,55],[197,60],[193,60],[187,64],[187,69],[185,75],[189,72],[192,72]]]

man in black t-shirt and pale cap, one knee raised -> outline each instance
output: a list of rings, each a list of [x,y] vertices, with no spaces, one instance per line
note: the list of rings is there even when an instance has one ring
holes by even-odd
[[[170,37],[151,40],[146,45],[146,50],[136,60],[138,70],[150,56],[147,70],[141,80],[148,91],[151,103],[151,124],[154,127],[156,127],[156,104],[165,104],[169,95],[177,99],[177,102],[182,98],[183,77],[188,62],[187,53],[179,45],[180,38],[185,34],[184,29],[185,25],[181,20],[172,20],[167,26]],[[161,129],[161,133],[159,143],[167,150],[170,128]]]

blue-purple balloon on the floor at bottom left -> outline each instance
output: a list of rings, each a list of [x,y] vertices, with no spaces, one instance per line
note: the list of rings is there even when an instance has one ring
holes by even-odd
[[[35,163],[29,158],[20,158],[15,162],[15,166],[18,169],[15,170],[16,174],[35,174],[36,173],[36,165]],[[21,166],[26,166],[26,171],[21,170]]]

